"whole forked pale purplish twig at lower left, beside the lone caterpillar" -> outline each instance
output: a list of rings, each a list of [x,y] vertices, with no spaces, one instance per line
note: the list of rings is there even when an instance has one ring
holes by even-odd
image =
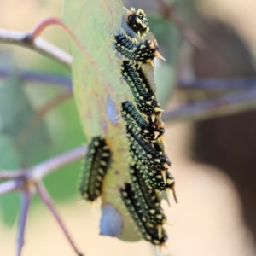
[[[52,212],[56,221],[61,226],[61,230],[64,232],[67,240],[70,242],[77,255],[83,256],[83,254],[79,253],[78,248],[74,245],[74,242],[69,233],[67,232],[67,229],[62,222],[59,213],[56,211],[47,190],[44,188],[44,184],[41,183],[41,179],[50,172],[54,172],[61,166],[67,166],[67,164],[83,158],[86,150],[87,148],[85,148],[84,146],[74,148],[67,153],[55,156],[49,160],[45,160],[43,163],[33,166],[31,169],[17,170],[14,172],[0,172],[0,180],[12,179],[7,182],[0,183],[0,195],[15,190],[20,190],[22,193],[20,224],[17,238],[17,256],[20,256],[21,249],[24,244],[27,212],[30,205],[32,192],[35,188],[38,189],[38,194],[41,196],[47,207],[49,207],[50,212]]]

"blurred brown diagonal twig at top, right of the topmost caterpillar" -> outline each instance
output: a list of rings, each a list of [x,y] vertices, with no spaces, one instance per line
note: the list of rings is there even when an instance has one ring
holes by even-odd
[[[190,44],[193,44],[197,49],[207,49],[207,44],[205,44],[205,42],[194,31],[192,31],[183,23],[182,20],[178,18],[172,6],[166,4],[164,0],[156,0],[156,2],[160,6],[161,14],[177,26],[177,29],[183,34],[183,37],[186,38]]]

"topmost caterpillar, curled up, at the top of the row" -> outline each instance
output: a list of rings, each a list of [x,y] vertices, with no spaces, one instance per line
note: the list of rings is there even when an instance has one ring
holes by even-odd
[[[125,22],[139,37],[143,37],[149,31],[148,20],[143,9],[131,8],[128,10],[125,15]]]

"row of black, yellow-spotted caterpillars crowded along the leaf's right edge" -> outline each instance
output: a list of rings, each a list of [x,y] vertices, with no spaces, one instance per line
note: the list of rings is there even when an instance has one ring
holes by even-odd
[[[169,172],[171,161],[163,145],[163,110],[143,72],[143,65],[151,63],[154,66],[154,57],[162,57],[155,39],[143,39],[149,27],[142,9],[128,10],[125,22],[137,37],[131,38],[131,33],[129,36],[121,32],[115,36],[114,45],[125,58],[120,73],[131,89],[136,106],[130,101],[121,103],[132,163],[131,183],[125,183],[120,195],[143,238],[154,245],[163,245],[167,240],[163,228],[166,215],[160,207],[157,191],[171,189],[177,201],[175,181]]]

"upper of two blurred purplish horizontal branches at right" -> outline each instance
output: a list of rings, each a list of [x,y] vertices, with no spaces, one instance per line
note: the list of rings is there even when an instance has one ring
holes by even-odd
[[[194,79],[181,80],[177,86],[178,90],[247,90],[256,86],[256,77],[245,77],[235,79]]]

